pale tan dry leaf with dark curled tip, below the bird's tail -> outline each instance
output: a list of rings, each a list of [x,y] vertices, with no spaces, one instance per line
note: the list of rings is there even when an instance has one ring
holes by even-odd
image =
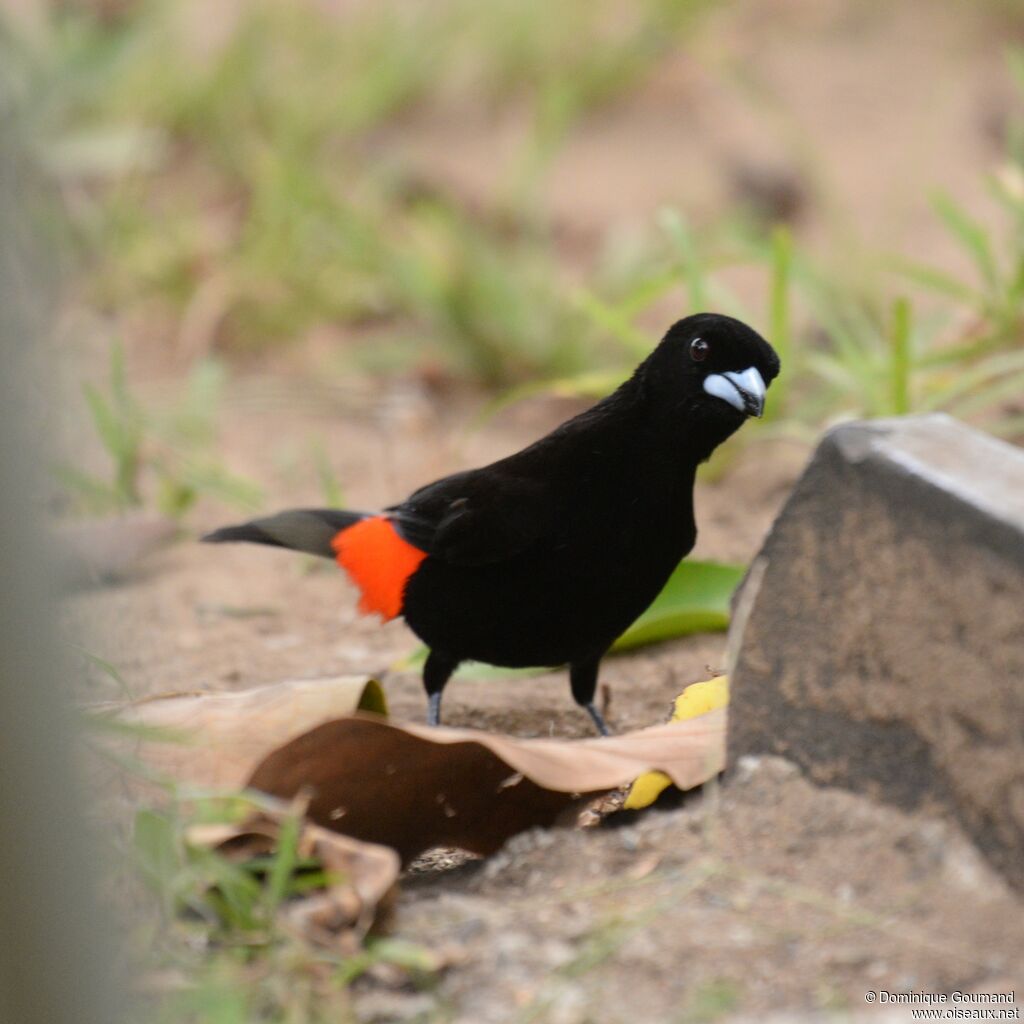
[[[386,714],[384,691],[365,676],[300,679],[227,693],[168,693],[97,709],[120,722],[172,733],[132,740],[132,754],[184,782],[241,788],[268,751],[355,711]]]

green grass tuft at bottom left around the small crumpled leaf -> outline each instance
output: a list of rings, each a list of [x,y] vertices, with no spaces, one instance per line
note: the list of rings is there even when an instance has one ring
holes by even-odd
[[[144,1019],[327,1024],[351,1019],[348,987],[382,966],[409,986],[430,984],[440,958],[422,946],[371,937],[349,950],[341,940],[313,948],[282,921],[289,901],[342,881],[300,850],[298,813],[282,822],[272,852],[242,863],[193,839],[197,826],[237,825],[259,810],[258,795],[237,794],[135,813],[125,852],[157,903],[138,927],[165,977],[182,978],[140,1000]]]

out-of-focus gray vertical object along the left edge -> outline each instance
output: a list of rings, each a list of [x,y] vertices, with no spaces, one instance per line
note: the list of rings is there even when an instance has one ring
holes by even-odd
[[[30,368],[52,308],[52,253],[38,242],[51,225],[37,217],[45,205],[16,137],[0,132],[0,1020],[112,1024],[112,936],[74,771],[36,478],[44,386]]]

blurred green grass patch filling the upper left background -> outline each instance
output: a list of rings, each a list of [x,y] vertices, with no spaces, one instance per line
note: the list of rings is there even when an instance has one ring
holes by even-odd
[[[43,163],[89,179],[71,212],[101,304],[159,304],[199,349],[383,322],[419,357],[501,386],[589,354],[534,203],[544,169],[703,6],[443,0],[341,18],[256,0],[213,19],[229,23],[220,44],[173,4],[65,8],[34,35],[8,30],[4,55],[39,97]],[[380,154],[388,126],[467,93],[526,112],[490,218]]]

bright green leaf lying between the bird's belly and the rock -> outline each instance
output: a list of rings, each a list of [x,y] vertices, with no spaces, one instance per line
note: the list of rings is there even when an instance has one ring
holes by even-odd
[[[653,604],[615,641],[612,650],[632,650],[729,625],[729,601],[745,571],[742,565],[685,561]]]

